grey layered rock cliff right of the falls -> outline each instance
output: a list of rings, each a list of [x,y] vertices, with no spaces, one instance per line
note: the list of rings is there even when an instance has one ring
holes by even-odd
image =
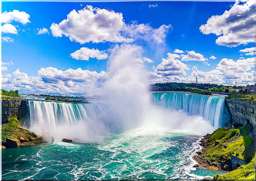
[[[256,101],[226,98],[225,104],[231,113],[233,124],[241,124],[243,126],[252,124],[254,131],[256,130]]]

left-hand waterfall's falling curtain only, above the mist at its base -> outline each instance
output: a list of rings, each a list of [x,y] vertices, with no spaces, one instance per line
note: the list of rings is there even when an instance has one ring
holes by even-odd
[[[76,104],[30,100],[28,105],[30,125],[37,124],[42,128],[75,124],[88,118],[96,119],[99,114],[106,111],[104,103]]]

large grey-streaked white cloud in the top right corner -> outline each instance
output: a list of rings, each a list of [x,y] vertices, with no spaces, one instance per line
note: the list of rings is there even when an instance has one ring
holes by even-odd
[[[200,26],[203,34],[213,33],[216,43],[227,47],[254,42],[255,1],[238,2],[222,15],[210,17]]]

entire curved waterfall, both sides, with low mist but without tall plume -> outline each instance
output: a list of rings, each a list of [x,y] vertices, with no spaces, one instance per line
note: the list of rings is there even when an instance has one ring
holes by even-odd
[[[79,138],[87,142],[143,125],[167,126],[202,134],[201,129],[203,133],[211,132],[230,123],[225,99],[221,97],[155,93],[152,98],[145,115],[139,118],[135,116],[134,120],[132,116],[127,116],[131,114],[130,109],[124,107],[123,112],[117,114],[111,102],[82,104],[29,100],[30,121],[27,127],[38,135],[46,132],[59,140]],[[136,106],[133,104],[136,102],[127,107]],[[122,119],[120,114],[123,115]]]

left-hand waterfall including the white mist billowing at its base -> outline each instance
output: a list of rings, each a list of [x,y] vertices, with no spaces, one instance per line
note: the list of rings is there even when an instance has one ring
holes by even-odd
[[[60,103],[30,100],[29,129],[36,134],[48,133],[55,139],[78,138],[95,141],[108,131],[101,120],[107,109],[105,103]]]

